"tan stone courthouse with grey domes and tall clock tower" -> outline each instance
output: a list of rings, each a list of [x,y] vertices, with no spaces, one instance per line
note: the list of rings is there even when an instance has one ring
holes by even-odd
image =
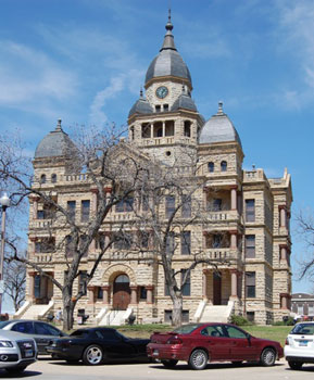
[[[196,176],[206,180],[197,190],[203,202],[202,224],[191,225],[185,242],[178,240],[175,265],[186,267],[194,250],[209,258],[229,261],[218,271],[204,263],[193,268],[184,290],[184,320],[227,321],[231,314],[258,324],[281,320],[291,306],[290,175],[284,168],[281,178],[267,178],[262,168],[244,170],[240,136],[222,102],[205,121],[192,90],[169,17],[161,50],[148,67],[145,91],[128,113],[128,139],[123,144],[161,166],[186,168],[179,159],[184,150],[197,157]],[[38,143],[33,186],[50,192],[58,203],[73,210],[77,220],[87,223],[97,207],[97,193],[85,174],[66,172],[65,156],[72,148],[59,122]],[[131,208],[116,206],[110,223],[128,220],[131,213]],[[32,195],[28,257],[61,282],[65,253],[54,251],[64,233],[62,227],[53,226],[40,199]],[[80,276],[90,268],[98,249],[97,243],[90,245]],[[26,303],[16,316],[40,318],[62,306],[60,290],[30,267],[26,287]],[[173,306],[162,267],[138,261],[136,254],[104,257],[86,291],[77,309],[85,309],[89,322],[123,324],[131,314],[138,322],[171,320]]]

